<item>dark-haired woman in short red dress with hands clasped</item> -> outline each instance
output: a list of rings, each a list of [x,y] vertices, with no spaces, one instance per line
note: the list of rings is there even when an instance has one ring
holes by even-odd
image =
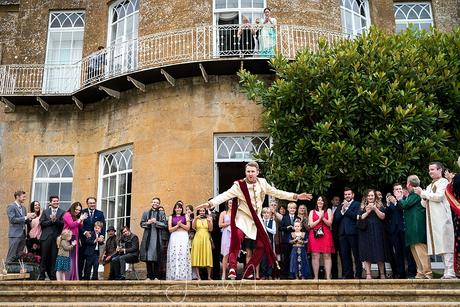
[[[316,200],[315,210],[308,215],[310,234],[308,236],[308,252],[312,255],[314,279],[318,279],[319,258],[323,255],[326,279],[331,279],[332,260],[331,254],[335,253],[332,239],[331,225],[333,214],[327,208],[327,200],[319,196]]]

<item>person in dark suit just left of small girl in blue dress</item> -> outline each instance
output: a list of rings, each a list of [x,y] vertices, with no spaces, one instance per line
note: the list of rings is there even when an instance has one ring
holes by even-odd
[[[283,263],[283,278],[289,278],[289,263],[291,261],[291,233],[294,231],[294,222],[299,217],[295,214],[297,210],[297,204],[291,202],[288,204],[288,213],[283,216],[280,224],[281,231],[281,255]]]

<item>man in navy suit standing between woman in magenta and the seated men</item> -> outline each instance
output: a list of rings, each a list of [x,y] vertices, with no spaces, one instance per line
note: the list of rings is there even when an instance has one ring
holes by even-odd
[[[96,197],[90,196],[86,199],[87,208],[83,209],[81,214],[87,214],[88,218],[84,220],[83,226],[80,228],[80,242],[82,243],[82,249],[86,249],[87,239],[91,237],[91,232],[94,231],[94,224],[96,222],[102,223],[102,233],[105,234],[105,217],[104,212],[96,209],[97,201]],[[81,280],[89,279],[89,276],[83,276],[83,272],[86,266],[86,255],[80,253],[78,255],[78,276]]]

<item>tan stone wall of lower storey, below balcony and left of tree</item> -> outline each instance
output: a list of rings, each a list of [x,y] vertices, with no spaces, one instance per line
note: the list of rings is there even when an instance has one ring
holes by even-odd
[[[72,155],[72,201],[97,195],[99,154],[132,144],[131,225],[140,233],[142,211],[158,195],[170,212],[182,199],[200,204],[213,195],[214,133],[260,132],[261,109],[240,93],[236,76],[160,82],[145,93],[130,90],[78,111],[73,105],[17,107],[0,112],[0,221],[13,193],[32,190],[34,157]],[[0,143],[1,144],[1,143]],[[8,146],[5,146],[8,145]],[[243,176],[243,171],[242,171]],[[0,256],[8,247],[8,224],[0,229]]]

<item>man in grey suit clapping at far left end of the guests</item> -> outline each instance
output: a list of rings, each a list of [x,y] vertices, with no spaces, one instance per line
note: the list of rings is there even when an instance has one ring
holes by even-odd
[[[26,245],[26,223],[34,219],[35,213],[27,213],[26,208],[22,205],[26,200],[26,192],[14,192],[14,202],[6,208],[6,215],[10,224],[8,231],[8,255],[6,261],[10,262],[15,256],[24,250]]]

